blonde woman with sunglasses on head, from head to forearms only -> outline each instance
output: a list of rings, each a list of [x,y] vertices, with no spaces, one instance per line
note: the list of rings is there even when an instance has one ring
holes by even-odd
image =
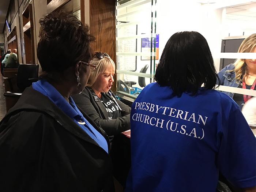
[[[131,108],[110,90],[114,82],[114,61],[107,53],[95,52],[90,64],[96,66],[95,71],[91,72],[82,94],[72,98],[108,136],[127,131],[130,129]]]

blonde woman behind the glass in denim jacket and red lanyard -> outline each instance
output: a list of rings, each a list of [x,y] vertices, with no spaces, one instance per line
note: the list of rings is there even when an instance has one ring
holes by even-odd
[[[256,34],[252,34],[240,45],[238,53],[256,53]],[[237,59],[235,63],[223,68],[218,76],[221,85],[256,90],[256,58]],[[231,92],[224,92],[229,95],[239,105],[240,109],[251,96]]]

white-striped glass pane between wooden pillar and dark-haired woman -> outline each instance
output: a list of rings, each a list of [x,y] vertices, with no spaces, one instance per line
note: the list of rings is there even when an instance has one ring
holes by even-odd
[[[136,98],[153,82],[158,60],[156,0],[118,0],[116,32],[117,91]]]

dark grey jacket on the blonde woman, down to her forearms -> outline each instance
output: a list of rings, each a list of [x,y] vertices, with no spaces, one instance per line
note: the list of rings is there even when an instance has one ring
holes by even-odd
[[[109,90],[112,95],[113,92]],[[108,93],[106,95],[113,100]],[[85,87],[83,92],[79,95],[72,95],[76,105],[78,105],[89,117],[98,123],[101,128],[108,134],[108,136],[116,135],[130,129],[130,113],[131,108],[128,105],[125,105],[123,102],[119,101],[114,97],[121,107],[120,117],[116,119],[109,120],[108,112],[103,103],[96,99],[97,95],[90,87]]]

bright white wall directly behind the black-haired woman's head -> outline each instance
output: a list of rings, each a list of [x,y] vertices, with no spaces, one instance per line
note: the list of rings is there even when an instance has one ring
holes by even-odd
[[[157,31],[160,34],[159,54],[174,33],[179,31],[197,31],[207,40],[213,56],[221,51],[223,36],[223,15],[225,8],[214,9],[208,4],[195,1],[162,0],[158,4]],[[214,63],[219,69],[219,58]]]

